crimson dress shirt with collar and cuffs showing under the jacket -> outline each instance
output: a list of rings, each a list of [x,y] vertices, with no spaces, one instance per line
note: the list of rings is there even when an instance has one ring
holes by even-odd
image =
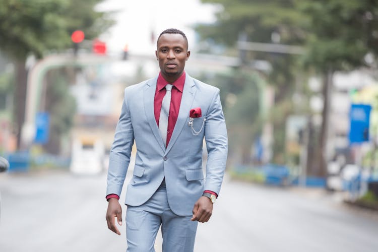
[[[186,74],[185,72],[183,72],[182,75],[173,83],[168,83],[160,73],[157,80],[155,98],[154,98],[154,114],[155,114],[156,123],[158,125],[159,125],[161,103],[163,102],[163,98],[166,93],[165,85],[167,84],[173,85],[172,91],[171,91],[172,96],[171,96],[171,103],[169,107],[169,116],[168,116],[167,146],[168,146],[169,140],[172,137],[174,125],[176,124],[176,121],[177,121],[178,111],[180,109],[180,104],[181,104],[182,90],[184,89],[184,84],[185,84],[185,76]],[[204,191],[204,193],[210,193],[218,197],[216,193],[209,190]],[[110,198],[117,198],[119,200],[119,196],[116,194],[109,194],[108,196],[106,196],[106,200]]]

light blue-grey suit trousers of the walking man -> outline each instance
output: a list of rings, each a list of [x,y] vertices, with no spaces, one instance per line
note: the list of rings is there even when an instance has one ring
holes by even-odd
[[[192,216],[174,214],[167,199],[165,181],[143,205],[127,207],[126,236],[128,252],[154,252],[154,243],[161,225],[163,252],[193,252],[197,221]]]

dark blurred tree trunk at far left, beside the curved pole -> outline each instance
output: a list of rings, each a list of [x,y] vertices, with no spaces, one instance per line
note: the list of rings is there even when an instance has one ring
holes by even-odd
[[[15,108],[17,122],[17,149],[21,147],[21,129],[25,121],[25,104],[26,104],[26,86],[27,71],[25,68],[25,59],[19,59],[16,65],[16,90],[15,90]]]

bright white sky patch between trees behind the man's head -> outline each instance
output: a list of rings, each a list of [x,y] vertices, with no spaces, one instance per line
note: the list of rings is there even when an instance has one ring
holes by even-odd
[[[155,40],[163,30],[177,28],[182,30],[190,43],[196,42],[191,28],[196,23],[215,21],[217,6],[204,5],[200,0],[106,0],[97,6],[101,11],[118,11],[114,14],[116,24],[101,35],[109,51],[122,50],[129,44],[133,53],[150,54],[156,46],[151,42],[151,31]]]

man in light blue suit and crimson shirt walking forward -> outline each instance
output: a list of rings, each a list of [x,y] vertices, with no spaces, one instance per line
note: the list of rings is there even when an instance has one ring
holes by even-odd
[[[184,72],[190,56],[185,34],[163,31],[155,54],[159,76],[124,91],[109,157],[106,220],[120,234],[115,226],[115,218],[122,224],[118,199],[135,140],[136,161],[125,200],[127,251],[155,251],[160,225],[164,252],[193,251],[198,221],[210,219],[223,180],[226,125],[219,89]]]

